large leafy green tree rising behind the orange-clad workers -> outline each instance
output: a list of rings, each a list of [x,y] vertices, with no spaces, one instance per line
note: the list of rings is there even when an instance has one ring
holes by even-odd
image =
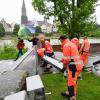
[[[85,31],[94,18],[98,0],[33,0],[32,5],[40,14],[54,16],[59,22],[59,30],[68,33],[70,38]],[[48,4],[47,4],[48,3]],[[77,34],[76,34],[77,33]]]

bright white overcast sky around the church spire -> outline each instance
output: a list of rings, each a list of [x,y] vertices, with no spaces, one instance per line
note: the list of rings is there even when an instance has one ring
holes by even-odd
[[[22,2],[23,0],[0,0],[0,20],[4,18],[7,23],[20,23]],[[25,0],[28,19],[43,20],[43,16],[34,11],[31,2],[32,0]],[[96,7],[96,19],[100,24],[100,6]],[[49,22],[52,22],[52,19]]]

